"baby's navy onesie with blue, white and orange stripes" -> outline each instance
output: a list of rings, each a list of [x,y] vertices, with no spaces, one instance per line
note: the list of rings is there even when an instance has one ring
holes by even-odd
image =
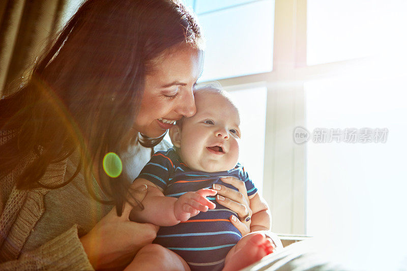
[[[220,180],[220,177],[227,176],[243,180],[248,196],[257,192],[241,164],[222,172],[193,171],[182,163],[172,148],[155,153],[138,178],[147,179],[162,188],[165,196],[178,198],[189,191],[212,188],[212,184],[238,190]],[[242,238],[229,221],[230,215],[237,214],[217,204],[215,197],[207,198],[216,204],[215,209],[200,212],[175,226],[160,227],[153,242],[180,255],[191,270],[221,270],[227,252]]]

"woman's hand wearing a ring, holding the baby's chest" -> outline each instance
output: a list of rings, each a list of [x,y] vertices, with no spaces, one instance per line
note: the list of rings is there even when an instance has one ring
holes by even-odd
[[[251,220],[244,221],[243,219],[247,215],[249,215],[250,217],[252,215],[245,183],[242,180],[234,177],[224,177],[221,178],[221,180],[223,183],[236,187],[239,191],[227,188],[219,184],[214,184],[213,189],[218,192],[216,201],[220,205],[223,205],[238,214],[238,218],[234,215],[231,215],[229,217],[229,220],[240,231],[240,233],[242,233],[242,236],[245,236],[250,232]]]

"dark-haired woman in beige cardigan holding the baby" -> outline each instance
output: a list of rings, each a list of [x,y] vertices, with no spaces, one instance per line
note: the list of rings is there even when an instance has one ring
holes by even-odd
[[[157,227],[128,218],[146,189],[128,196],[131,169],[148,160],[139,144],[154,147],[173,121],[195,113],[201,44],[177,2],[79,8],[31,78],[0,101],[0,269],[123,268],[152,242]],[[123,158],[118,177],[102,166],[107,153]],[[246,191],[219,194],[220,204],[251,212]],[[232,223],[249,232],[250,222]]]

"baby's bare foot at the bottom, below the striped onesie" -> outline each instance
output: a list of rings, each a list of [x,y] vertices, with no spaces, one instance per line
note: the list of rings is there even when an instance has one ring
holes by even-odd
[[[240,270],[266,255],[273,253],[274,247],[263,233],[251,233],[243,237],[226,257],[223,271]]]

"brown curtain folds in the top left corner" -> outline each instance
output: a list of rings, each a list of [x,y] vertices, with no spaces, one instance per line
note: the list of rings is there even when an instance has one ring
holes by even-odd
[[[52,42],[68,0],[0,1],[0,97],[11,94]]]

